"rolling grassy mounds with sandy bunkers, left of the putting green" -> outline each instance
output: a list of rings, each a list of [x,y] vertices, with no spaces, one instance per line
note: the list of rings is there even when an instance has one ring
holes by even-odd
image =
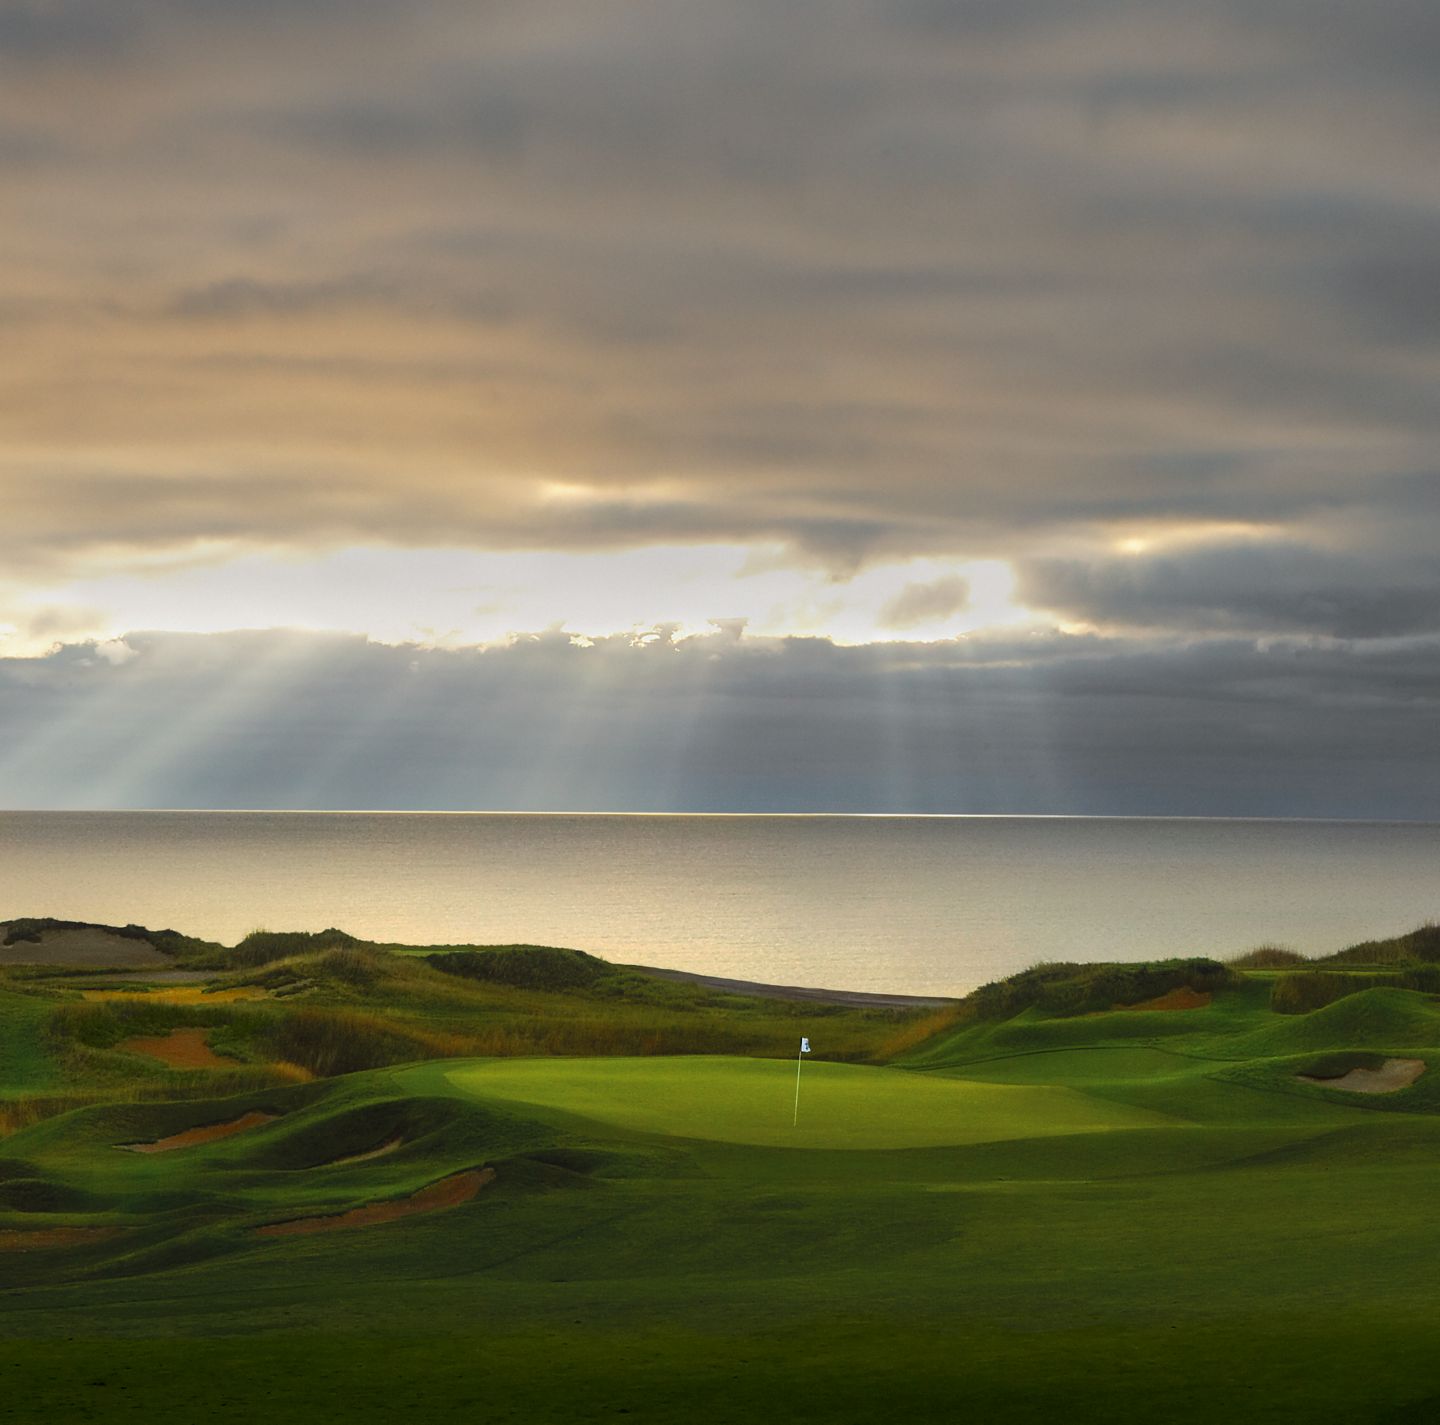
[[[403,1139],[396,1152],[328,1166],[389,1136]],[[553,1128],[510,1108],[456,1092],[396,1094],[384,1074],[225,1100],[104,1104],[7,1140],[0,1231],[89,1234],[75,1238],[73,1254],[48,1251],[43,1270],[26,1258],[16,1284],[71,1270],[128,1278],[243,1251],[265,1222],[405,1199],[485,1164],[504,1164],[510,1192],[583,1182],[528,1157],[559,1147]],[[101,1229],[104,1238],[94,1235]]]

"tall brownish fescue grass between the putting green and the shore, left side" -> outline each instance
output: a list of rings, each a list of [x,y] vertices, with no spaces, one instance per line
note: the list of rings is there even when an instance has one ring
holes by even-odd
[[[274,1082],[449,1058],[775,1058],[793,1054],[806,1033],[821,1036],[827,1058],[877,1062],[949,1026],[958,1013],[749,999],[624,970],[557,990],[446,974],[420,959],[354,946],[274,960],[225,983],[251,993],[272,989],[274,996],[209,995],[176,1003],[134,995],[58,1003],[48,1041],[63,1081],[88,1091],[163,1078],[170,1088],[186,1071],[147,1064],[125,1046],[176,1029],[203,1029],[217,1054]],[[207,1074],[202,1095],[213,1097],[225,1071]]]

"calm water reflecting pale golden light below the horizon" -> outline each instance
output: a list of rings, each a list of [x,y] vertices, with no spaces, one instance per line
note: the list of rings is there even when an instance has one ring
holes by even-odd
[[[0,812],[0,920],[576,946],[958,995],[1035,960],[1306,953],[1440,917],[1440,826],[1094,818]]]

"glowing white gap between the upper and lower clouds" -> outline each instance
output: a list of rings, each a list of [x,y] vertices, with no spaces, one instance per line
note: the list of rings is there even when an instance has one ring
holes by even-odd
[[[907,558],[835,579],[786,563],[778,546],[274,551],[27,590],[7,610],[9,629],[0,625],[0,652],[33,655],[58,638],[137,630],[291,628],[461,646],[557,626],[592,636],[672,626],[685,635],[717,620],[838,643],[935,641],[1028,622],[1014,587],[1002,560]]]

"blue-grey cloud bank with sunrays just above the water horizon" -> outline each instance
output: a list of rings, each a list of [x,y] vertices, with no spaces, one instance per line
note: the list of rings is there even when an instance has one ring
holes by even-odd
[[[1437,818],[1437,712],[1434,638],[134,635],[0,661],[0,805]]]

